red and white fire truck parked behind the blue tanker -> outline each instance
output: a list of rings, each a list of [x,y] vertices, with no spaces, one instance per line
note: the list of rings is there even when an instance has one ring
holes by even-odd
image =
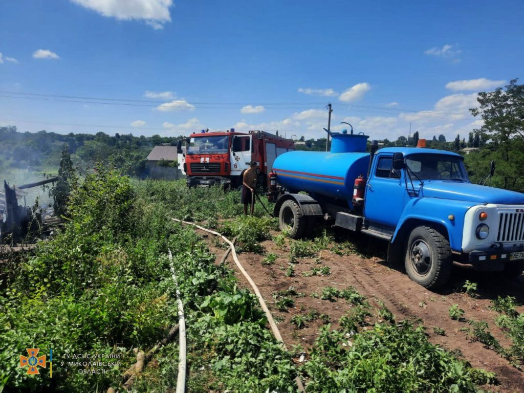
[[[191,134],[184,139],[187,148],[183,156],[183,171],[188,187],[222,184],[237,188],[242,185],[244,171],[250,161],[256,161],[258,184],[267,187],[267,176],[273,161],[281,154],[294,150],[291,139],[279,137],[264,131],[237,133],[235,129],[225,132]],[[178,143],[182,154],[182,141]]]

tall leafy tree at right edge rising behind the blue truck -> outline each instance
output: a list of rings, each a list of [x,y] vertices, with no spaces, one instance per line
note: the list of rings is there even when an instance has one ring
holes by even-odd
[[[497,175],[505,189],[524,189],[524,85],[513,79],[492,92],[478,93],[473,116],[481,116],[484,125],[475,132],[493,140],[495,151],[488,157],[497,161]]]

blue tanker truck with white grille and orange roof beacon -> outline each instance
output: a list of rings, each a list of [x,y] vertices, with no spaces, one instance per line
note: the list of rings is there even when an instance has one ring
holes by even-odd
[[[471,183],[454,152],[376,141],[366,152],[362,133],[330,136],[330,151],[289,151],[273,163],[268,195],[289,236],[325,220],[384,239],[388,261],[403,260],[426,288],[444,285],[454,264],[522,274],[524,194]]]

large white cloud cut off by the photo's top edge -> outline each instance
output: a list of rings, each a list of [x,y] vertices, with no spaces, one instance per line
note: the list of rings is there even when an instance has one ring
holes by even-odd
[[[173,0],[70,0],[107,17],[120,20],[141,19],[154,29],[171,21]]]

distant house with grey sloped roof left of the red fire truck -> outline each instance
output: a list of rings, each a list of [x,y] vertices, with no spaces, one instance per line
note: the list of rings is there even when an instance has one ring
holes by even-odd
[[[147,156],[147,176],[159,180],[183,178],[181,158],[176,146],[155,146]]]

